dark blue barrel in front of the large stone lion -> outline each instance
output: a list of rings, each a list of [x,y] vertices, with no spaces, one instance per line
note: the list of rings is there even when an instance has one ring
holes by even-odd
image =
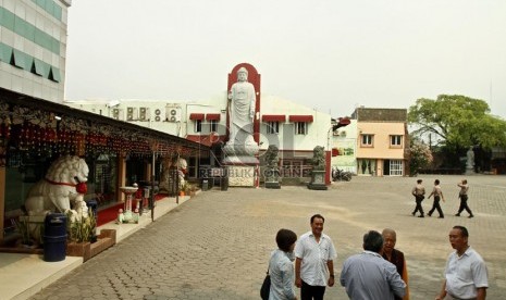
[[[44,260],[59,262],[66,257],[66,215],[50,213],[44,220]]]

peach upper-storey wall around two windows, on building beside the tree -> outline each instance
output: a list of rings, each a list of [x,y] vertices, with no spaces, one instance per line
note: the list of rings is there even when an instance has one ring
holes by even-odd
[[[404,159],[404,147],[406,142],[404,123],[366,123],[357,124],[357,159]],[[373,147],[365,148],[361,145],[361,135],[373,135]],[[403,136],[400,148],[390,146],[390,136]]]

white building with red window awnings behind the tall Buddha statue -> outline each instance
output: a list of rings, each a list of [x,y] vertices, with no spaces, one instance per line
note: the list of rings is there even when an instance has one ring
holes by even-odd
[[[207,146],[222,146],[226,139],[226,92],[200,102],[166,100],[67,101],[65,104],[134,123]],[[313,148],[328,148],[331,116],[288,100],[261,97],[259,112],[260,159],[270,145],[280,150],[282,175],[304,177],[311,166]],[[215,163],[223,159],[217,151]],[[189,175],[197,177],[198,164],[214,164],[209,158],[189,158]]]

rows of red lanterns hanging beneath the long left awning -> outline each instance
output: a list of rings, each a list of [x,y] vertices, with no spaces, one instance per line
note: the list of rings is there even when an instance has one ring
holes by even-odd
[[[10,110],[12,108],[12,110]],[[144,133],[97,124],[74,116],[57,116],[52,112],[14,105],[0,101],[0,138],[12,140],[21,150],[53,155],[60,153],[112,153],[166,157],[175,152],[189,157],[198,149],[157,140]],[[157,140],[156,148],[152,140]]]

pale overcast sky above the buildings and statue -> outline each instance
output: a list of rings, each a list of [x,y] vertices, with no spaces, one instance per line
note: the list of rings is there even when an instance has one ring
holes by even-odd
[[[504,0],[74,0],[66,100],[195,102],[239,63],[330,113],[464,95],[506,117]]]

